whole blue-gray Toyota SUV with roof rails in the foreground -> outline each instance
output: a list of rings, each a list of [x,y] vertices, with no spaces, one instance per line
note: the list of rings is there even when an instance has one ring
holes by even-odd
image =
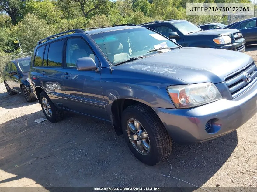
[[[244,53],[182,48],[139,26],[47,37],[38,42],[29,72],[50,122],[60,121],[64,110],[108,121],[148,165],[171,154],[172,140],[200,143],[248,121],[257,112],[256,76]]]

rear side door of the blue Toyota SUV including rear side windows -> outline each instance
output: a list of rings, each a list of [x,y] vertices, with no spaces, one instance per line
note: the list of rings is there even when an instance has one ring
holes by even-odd
[[[39,74],[40,86],[51,101],[65,107],[66,96],[62,82],[64,39],[38,47],[34,60],[34,70]]]

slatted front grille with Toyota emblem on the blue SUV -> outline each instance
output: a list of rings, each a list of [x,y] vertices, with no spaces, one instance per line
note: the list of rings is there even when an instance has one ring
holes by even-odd
[[[245,74],[250,74],[250,81],[247,82]],[[229,91],[233,98],[237,97],[241,93],[245,92],[250,86],[257,81],[257,68],[254,62],[245,66],[244,68],[232,73],[225,77],[225,82],[229,88]]]

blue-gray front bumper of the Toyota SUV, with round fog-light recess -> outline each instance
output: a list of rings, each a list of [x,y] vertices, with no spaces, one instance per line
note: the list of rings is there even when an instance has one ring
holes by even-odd
[[[233,100],[192,109],[153,108],[176,143],[200,143],[236,130],[257,113],[257,83]],[[213,133],[205,130],[211,120]]]

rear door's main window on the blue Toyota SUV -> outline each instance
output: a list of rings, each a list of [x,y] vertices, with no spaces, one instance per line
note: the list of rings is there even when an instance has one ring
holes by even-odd
[[[62,50],[64,41],[50,43],[48,50],[47,66],[61,67],[62,66]]]

